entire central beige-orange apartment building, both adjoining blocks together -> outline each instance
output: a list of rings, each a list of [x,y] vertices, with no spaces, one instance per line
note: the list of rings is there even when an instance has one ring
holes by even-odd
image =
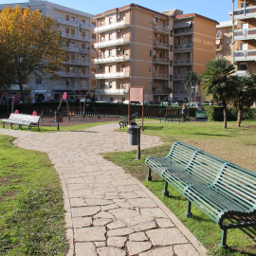
[[[215,58],[216,21],[173,9],[156,12],[136,4],[94,17],[98,101],[127,101],[130,86],[143,86],[145,101],[188,101],[182,78],[200,74]],[[201,101],[200,89],[197,101]]]

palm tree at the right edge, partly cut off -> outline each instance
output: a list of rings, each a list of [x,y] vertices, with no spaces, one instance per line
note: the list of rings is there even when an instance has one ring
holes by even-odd
[[[238,108],[237,127],[240,127],[243,119],[244,106],[250,107],[256,101],[256,74],[252,74],[251,78],[248,77],[234,77],[233,80],[237,82],[236,97],[232,102],[235,108]]]

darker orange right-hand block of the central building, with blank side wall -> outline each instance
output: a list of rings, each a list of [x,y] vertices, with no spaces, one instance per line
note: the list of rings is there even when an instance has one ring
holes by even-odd
[[[174,100],[187,101],[188,96],[182,79],[188,71],[200,75],[205,70],[205,64],[215,58],[215,33],[218,22],[196,13],[174,14],[173,94]],[[195,101],[204,101],[201,87],[202,84],[195,90]]]

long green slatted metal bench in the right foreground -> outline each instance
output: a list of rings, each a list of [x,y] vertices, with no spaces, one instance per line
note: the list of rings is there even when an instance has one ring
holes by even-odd
[[[222,229],[221,247],[227,246],[228,229],[256,227],[256,173],[217,156],[176,141],[165,157],[149,156],[147,179],[154,171],[192,204],[205,212]]]

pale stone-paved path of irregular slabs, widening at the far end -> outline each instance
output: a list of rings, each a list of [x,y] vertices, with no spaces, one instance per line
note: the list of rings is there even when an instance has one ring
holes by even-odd
[[[64,192],[68,256],[206,255],[153,193],[99,155],[137,149],[117,128],[118,123],[81,132],[0,134],[17,137],[19,147],[46,152],[55,165]],[[160,144],[159,137],[141,135],[141,149]]]

